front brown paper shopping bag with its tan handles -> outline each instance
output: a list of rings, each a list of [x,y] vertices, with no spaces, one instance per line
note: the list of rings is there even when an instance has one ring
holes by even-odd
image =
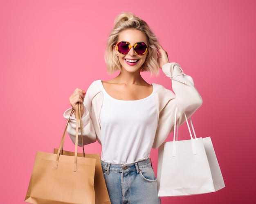
[[[80,113],[80,110],[77,112]],[[62,154],[67,125],[57,154],[42,151],[36,153],[25,202],[33,204],[95,203],[96,159],[77,156],[79,118],[81,114],[76,114],[74,156]]]

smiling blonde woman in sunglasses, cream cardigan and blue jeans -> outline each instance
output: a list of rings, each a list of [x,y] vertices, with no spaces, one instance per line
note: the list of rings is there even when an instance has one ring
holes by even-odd
[[[151,148],[158,148],[173,130],[177,109],[179,124],[202,104],[191,77],[180,65],[169,63],[148,24],[132,13],[115,20],[106,50],[108,72],[120,70],[110,81],[94,81],[85,94],[77,88],[69,98],[81,105],[83,143],[102,145],[101,163],[112,204],[161,203],[150,163]],[[172,80],[173,91],[148,84],[141,71],[157,74],[159,68]],[[71,109],[64,113],[69,117]],[[75,113],[76,114],[76,113]],[[75,117],[68,133],[74,142]],[[79,142],[81,145],[81,141]]]

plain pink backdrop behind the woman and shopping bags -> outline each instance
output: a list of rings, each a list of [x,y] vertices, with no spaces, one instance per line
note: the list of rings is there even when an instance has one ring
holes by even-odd
[[[211,136],[225,179],[218,192],[162,203],[256,203],[254,0],[1,0],[0,203],[24,203],[36,151],[58,147],[73,90],[112,77],[103,55],[121,11],[146,20],[169,59],[193,76],[204,101],[193,123],[199,137]],[[171,88],[162,72],[144,76]],[[181,134],[188,138],[184,125]],[[65,148],[74,148],[69,138]],[[151,158],[156,172],[157,150]]]

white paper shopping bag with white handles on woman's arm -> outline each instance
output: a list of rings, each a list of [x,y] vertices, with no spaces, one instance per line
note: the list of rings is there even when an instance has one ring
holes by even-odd
[[[186,123],[189,128],[187,119]],[[189,128],[191,139],[177,140],[175,124],[173,141],[159,147],[158,196],[210,193],[225,187],[211,138],[196,138],[192,121],[191,127],[195,138]]]

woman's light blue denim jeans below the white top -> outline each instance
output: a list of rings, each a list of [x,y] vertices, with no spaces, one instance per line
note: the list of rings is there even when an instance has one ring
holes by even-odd
[[[150,159],[126,165],[101,161],[111,204],[160,204]]]

